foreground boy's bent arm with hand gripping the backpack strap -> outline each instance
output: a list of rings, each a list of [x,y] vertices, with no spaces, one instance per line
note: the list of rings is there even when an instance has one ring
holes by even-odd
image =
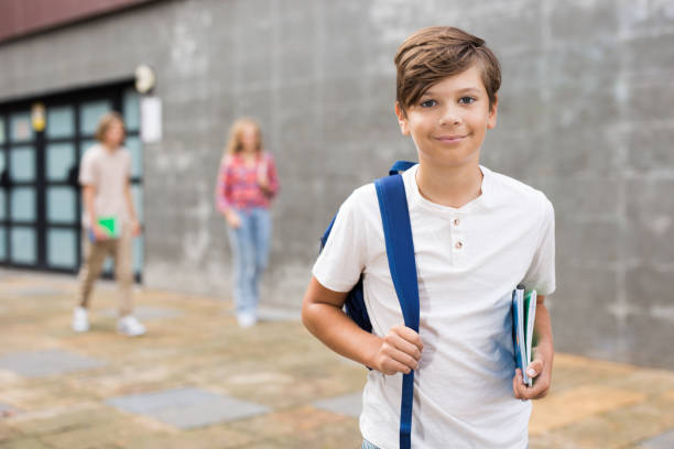
[[[302,303],[304,326],[333,351],[384,374],[415,370],[423,349],[418,333],[405,326],[383,338],[366,332],[341,310],[346,296],[312,276]]]

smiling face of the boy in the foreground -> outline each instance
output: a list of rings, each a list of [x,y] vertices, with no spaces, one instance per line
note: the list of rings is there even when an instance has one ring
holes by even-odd
[[[489,108],[480,68],[474,65],[431,86],[406,114],[396,103],[395,114],[421,163],[459,167],[479,163],[485,134],[496,127],[497,103]]]

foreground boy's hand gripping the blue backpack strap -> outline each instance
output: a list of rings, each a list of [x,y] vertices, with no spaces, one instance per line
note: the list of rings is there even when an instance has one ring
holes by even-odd
[[[381,339],[381,346],[374,354],[371,368],[387,375],[407,374],[418,368],[423,349],[424,344],[418,333],[406,326],[394,326]]]

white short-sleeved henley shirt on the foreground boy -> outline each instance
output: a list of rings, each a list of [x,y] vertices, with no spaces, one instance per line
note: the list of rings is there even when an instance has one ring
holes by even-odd
[[[403,174],[424,350],[414,375],[412,447],[525,448],[531,403],[514,398],[511,293],[555,289],[554,210],[543,193],[480,167],[482,194],[456,209],[423,198],[418,166]],[[403,324],[373,184],[344,202],[313,274],[348,292],[363,273],[372,332]],[[402,374],[370,371],[360,429],[399,447]]]

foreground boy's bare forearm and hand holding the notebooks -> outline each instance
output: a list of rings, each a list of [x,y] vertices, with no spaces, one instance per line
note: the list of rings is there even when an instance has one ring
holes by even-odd
[[[515,376],[512,380],[512,388],[515,397],[519,399],[540,399],[550,390],[555,351],[553,348],[550,313],[547,307],[545,307],[544,300],[545,296],[543,295],[536,298],[534,332],[537,337],[537,344],[534,360],[526,366],[526,373],[530,377],[534,379],[534,384],[532,387],[529,387],[522,383],[522,372],[520,369],[517,370]]]

